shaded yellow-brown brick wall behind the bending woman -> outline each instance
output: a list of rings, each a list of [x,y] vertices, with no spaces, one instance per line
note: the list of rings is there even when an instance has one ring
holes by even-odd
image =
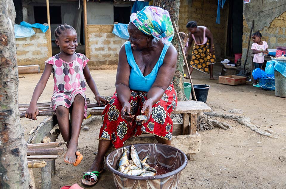
[[[180,32],[188,33],[186,24],[191,20],[197,21],[199,26],[206,26],[214,36],[217,59],[224,59],[228,11],[229,3],[226,1],[223,9],[220,9],[220,24],[215,24],[217,18],[217,0],[180,0],[179,30]]]

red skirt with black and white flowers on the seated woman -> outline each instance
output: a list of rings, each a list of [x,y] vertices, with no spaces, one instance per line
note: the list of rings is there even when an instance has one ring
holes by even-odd
[[[147,100],[147,92],[130,90],[131,115],[140,115],[143,103]],[[142,132],[157,135],[165,140],[172,139],[172,124],[170,113],[177,107],[177,94],[173,84],[171,84],[161,99],[152,106],[152,113],[149,120],[141,122],[133,120],[132,126],[122,118],[122,106],[115,92],[109,104],[102,113],[102,126],[100,129],[99,139],[111,140],[114,147],[120,148],[125,141],[132,136],[140,136]]]

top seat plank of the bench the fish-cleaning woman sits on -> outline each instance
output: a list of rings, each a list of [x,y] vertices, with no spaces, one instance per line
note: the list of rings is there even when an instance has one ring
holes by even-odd
[[[90,111],[91,115],[101,115],[105,107],[96,107]],[[212,109],[204,102],[200,101],[178,101],[177,107],[172,111],[175,113],[199,113],[211,112]]]

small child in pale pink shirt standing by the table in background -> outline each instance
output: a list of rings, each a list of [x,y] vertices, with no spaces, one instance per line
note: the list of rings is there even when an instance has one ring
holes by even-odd
[[[260,32],[255,32],[252,34],[252,40],[253,44],[251,46],[252,53],[254,53],[253,57],[253,63],[254,67],[262,69],[262,63],[264,63],[264,53],[268,53],[268,45],[266,41],[261,40],[261,33]],[[260,87],[259,84],[257,84],[257,79],[254,79],[253,86],[255,87]]]

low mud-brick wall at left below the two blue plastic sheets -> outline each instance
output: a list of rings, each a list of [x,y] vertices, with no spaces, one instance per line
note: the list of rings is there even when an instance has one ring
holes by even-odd
[[[18,65],[40,65],[45,68],[45,61],[49,58],[48,39],[50,33],[43,33],[41,29],[33,28],[35,35],[29,38],[17,38],[17,63]]]

